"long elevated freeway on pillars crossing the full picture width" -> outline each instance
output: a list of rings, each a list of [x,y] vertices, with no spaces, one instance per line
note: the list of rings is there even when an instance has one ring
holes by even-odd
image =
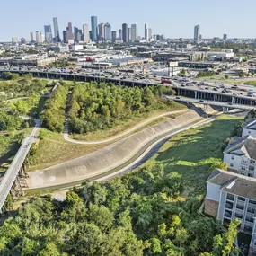
[[[4,70],[0,70],[0,75]],[[119,86],[139,86],[144,87],[148,85],[163,85],[159,83],[159,81],[144,79],[133,79],[131,77],[113,77],[112,75],[105,76],[95,76],[93,74],[69,74],[69,73],[57,73],[57,72],[46,72],[46,71],[29,71],[29,70],[12,70],[9,69],[8,72],[23,74],[31,74],[34,77],[39,78],[48,78],[48,79],[63,79],[68,81],[79,81],[79,82],[91,82],[96,81],[97,83],[106,82],[113,83]],[[195,100],[206,100],[211,102],[225,102],[232,103],[235,105],[248,105],[254,106],[256,108],[256,97],[247,96],[246,89],[243,90],[233,89],[232,85],[228,88],[228,92],[223,92],[220,90],[216,90],[216,85],[210,85],[207,87],[199,86],[198,84],[192,84],[191,82],[177,82],[176,84],[164,84],[165,86],[171,86],[177,95],[185,96],[187,98],[192,98]],[[243,85],[246,87],[246,85]],[[247,87],[246,87],[247,88]],[[251,87],[248,86],[248,90]],[[250,89],[252,90],[252,89]]]

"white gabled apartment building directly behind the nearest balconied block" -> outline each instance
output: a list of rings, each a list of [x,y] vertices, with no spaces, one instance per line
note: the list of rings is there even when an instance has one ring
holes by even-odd
[[[256,178],[256,138],[233,137],[224,150],[223,162],[229,171]]]

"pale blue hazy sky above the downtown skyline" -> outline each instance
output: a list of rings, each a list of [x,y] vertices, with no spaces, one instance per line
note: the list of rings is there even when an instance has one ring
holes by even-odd
[[[60,35],[67,22],[82,29],[96,15],[98,22],[110,22],[112,30],[122,23],[137,23],[139,35],[144,23],[153,34],[191,38],[193,27],[201,26],[203,38],[256,38],[256,0],[14,0],[1,1],[0,41],[13,36],[30,39],[31,31],[43,31],[57,16]],[[52,26],[53,27],[53,26]]]

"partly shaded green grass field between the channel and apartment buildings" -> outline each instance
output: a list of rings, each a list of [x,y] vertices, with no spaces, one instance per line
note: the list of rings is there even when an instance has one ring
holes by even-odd
[[[146,164],[163,163],[165,173],[180,172],[186,189],[182,197],[202,199],[207,188],[209,167],[222,161],[222,146],[241,118],[222,115],[213,123],[193,128],[172,137]]]

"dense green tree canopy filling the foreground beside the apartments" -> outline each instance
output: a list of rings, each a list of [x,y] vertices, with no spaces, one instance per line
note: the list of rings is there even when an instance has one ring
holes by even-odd
[[[150,165],[107,183],[84,182],[64,201],[31,199],[0,227],[1,255],[222,256],[234,252],[237,223],[198,214],[177,200],[182,176]],[[226,254],[223,254],[223,253]],[[235,254],[234,254],[235,255]]]

